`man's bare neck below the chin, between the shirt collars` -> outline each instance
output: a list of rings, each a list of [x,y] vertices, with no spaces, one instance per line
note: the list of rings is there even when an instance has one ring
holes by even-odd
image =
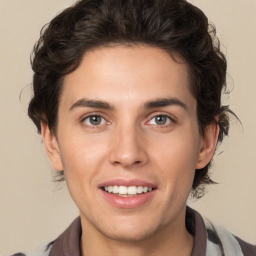
[[[171,223],[142,240],[114,240],[82,221],[81,256],[189,256],[193,247],[193,236],[185,228],[185,219]]]

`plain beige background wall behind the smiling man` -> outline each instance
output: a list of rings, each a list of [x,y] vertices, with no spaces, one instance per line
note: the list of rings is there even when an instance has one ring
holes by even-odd
[[[215,157],[220,182],[197,202],[203,215],[256,243],[256,1],[190,0],[217,27],[234,81],[233,123]],[[0,254],[54,239],[78,214],[65,186],[51,182],[40,137],[26,116],[32,72],[29,54],[42,25],[72,0],[0,0]],[[223,47],[225,50],[225,48]],[[226,51],[226,50],[225,50]],[[25,85],[28,86],[25,87]],[[23,88],[21,102],[19,92]],[[58,190],[58,188],[61,188]]]

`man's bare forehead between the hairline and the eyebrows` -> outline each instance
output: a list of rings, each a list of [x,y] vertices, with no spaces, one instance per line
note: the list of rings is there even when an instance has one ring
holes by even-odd
[[[65,77],[60,97],[65,105],[79,98],[140,104],[176,97],[194,104],[187,64],[152,46],[113,46],[85,52],[79,67]]]

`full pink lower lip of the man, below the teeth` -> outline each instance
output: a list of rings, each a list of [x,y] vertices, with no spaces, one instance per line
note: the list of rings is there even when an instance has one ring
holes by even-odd
[[[112,193],[108,193],[101,188],[99,189],[103,197],[113,206],[118,208],[135,208],[148,202],[155,194],[156,188],[147,193],[141,193],[136,196],[118,196]]]

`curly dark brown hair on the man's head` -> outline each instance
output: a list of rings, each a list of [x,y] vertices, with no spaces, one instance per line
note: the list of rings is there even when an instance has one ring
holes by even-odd
[[[138,43],[159,47],[186,61],[200,132],[217,116],[220,143],[228,134],[228,114],[233,114],[228,105],[220,103],[226,89],[226,59],[215,27],[185,0],[79,0],[46,24],[31,55],[34,95],[28,115],[38,132],[44,121],[56,134],[63,80],[79,66],[86,50]],[[203,195],[205,184],[214,183],[208,173],[210,164],[195,170],[195,197]],[[58,180],[63,179],[61,175]]]

